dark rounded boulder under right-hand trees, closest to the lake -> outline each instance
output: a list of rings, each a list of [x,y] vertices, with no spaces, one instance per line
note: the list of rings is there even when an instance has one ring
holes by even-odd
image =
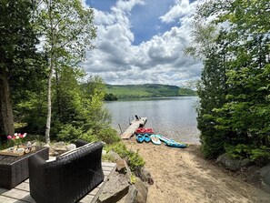
[[[237,171],[241,168],[241,160],[229,157],[226,153],[217,157],[215,163],[231,171]]]

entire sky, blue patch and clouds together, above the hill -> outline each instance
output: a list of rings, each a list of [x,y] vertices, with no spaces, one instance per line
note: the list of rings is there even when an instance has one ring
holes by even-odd
[[[95,49],[84,63],[105,83],[185,86],[202,63],[184,56],[196,5],[203,0],[85,0],[95,10]]]

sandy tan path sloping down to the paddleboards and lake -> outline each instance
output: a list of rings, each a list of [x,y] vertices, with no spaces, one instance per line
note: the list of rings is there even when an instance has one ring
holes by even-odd
[[[223,172],[197,156],[198,146],[185,149],[137,144],[125,145],[145,158],[155,184],[149,187],[147,203],[270,202],[270,193]]]

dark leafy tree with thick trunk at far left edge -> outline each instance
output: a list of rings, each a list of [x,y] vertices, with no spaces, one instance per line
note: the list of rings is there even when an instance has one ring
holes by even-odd
[[[0,131],[14,131],[12,112],[20,122],[17,104],[28,101],[29,92],[38,94],[45,79],[44,56],[36,52],[39,42],[33,24],[34,8],[35,2],[30,0],[3,0],[0,4],[0,102],[5,104],[0,105]],[[9,129],[2,129],[6,127]]]

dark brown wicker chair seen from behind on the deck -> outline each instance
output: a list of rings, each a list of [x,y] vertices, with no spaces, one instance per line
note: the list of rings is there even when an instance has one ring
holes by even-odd
[[[67,152],[55,161],[29,158],[30,195],[36,203],[73,203],[104,180],[103,144],[95,142]]]

